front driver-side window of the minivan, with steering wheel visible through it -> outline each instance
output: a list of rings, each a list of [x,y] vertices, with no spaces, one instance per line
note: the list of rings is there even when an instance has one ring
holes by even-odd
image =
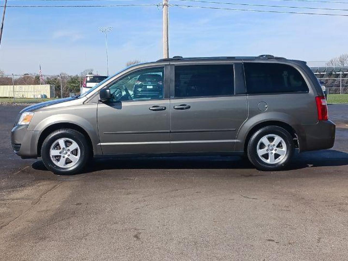
[[[111,102],[161,100],[164,98],[164,67],[130,73],[109,88]]]

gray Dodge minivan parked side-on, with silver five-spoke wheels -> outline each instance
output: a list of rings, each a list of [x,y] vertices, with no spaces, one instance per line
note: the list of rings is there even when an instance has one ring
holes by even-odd
[[[22,158],[56,174],[94,155],[240,155],[273,171],[332,148],[323,90],[306,62],[175,56],[128,67],[79,96],[22,110],[11,132]]]

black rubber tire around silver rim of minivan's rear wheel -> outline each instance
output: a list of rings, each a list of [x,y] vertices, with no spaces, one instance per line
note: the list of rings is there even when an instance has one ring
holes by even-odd
[[[266,163],[261,159],[261,156],[259,157],[258,155],[259,141],[266,135],[278,135],[285,142],[286,153],[283,159],[279,159],[279,162],[276,162],[273,164]],[[262,171],[277,171],[284,168],[286,165],[290,163],[294,150],[295,150],[295,145],[294,145],[291,134],[286,129],[279,126],[267,126],[267,127],[263,127],[259,129],[251,136],[248,142],[248,147],[247,147],[249,160],[257,169]],[[271,153],[271,152],[267,152],[267,153]],[[275,152],[272,152],[272,153],[275,153]],[[264,157],[267,157],[267,156],[269,157],[269,155],[266,155]],[[276,156],[274,155],[273,157],[276,157]],[[277,157],[279,158],[281,156],[278,156],[277,154]]]

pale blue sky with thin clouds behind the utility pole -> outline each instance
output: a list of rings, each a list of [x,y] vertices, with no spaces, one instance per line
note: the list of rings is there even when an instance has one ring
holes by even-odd
[[[8,0],[8,5],[112,5],[159,1]],[[274,0],[220,1],[348,9],[348,4],[319,5]],[[0,5],[3,5],[3,2],[0,1]],[[175,0],[169,2],[275,10]],[[2,13],[2,8],[0,11]],[[346,13],[348,14],[348,11]],[[348,52],[348,17],[171,7],[169,19],[169,56],[274,54],[305,61],[326,61]],[[38,72],[41,63],[44,74],[77,74],[87,68],[94,68],[103,74],[106,70],[105,38],[98,31],[99,26],[113,27],[112,33],[109,34],[110,73],[123,68],[129,60],[146,62],[162,56],[162,10],[155,6],[8,8],[0,47],[0,70],[16,74],[35,73]]]

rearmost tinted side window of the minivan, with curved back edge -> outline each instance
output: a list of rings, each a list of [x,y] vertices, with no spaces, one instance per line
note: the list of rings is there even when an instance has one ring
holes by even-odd
[[[308,86],[294,67],[279,63],[244,63],[248,94],[303,93]]]

